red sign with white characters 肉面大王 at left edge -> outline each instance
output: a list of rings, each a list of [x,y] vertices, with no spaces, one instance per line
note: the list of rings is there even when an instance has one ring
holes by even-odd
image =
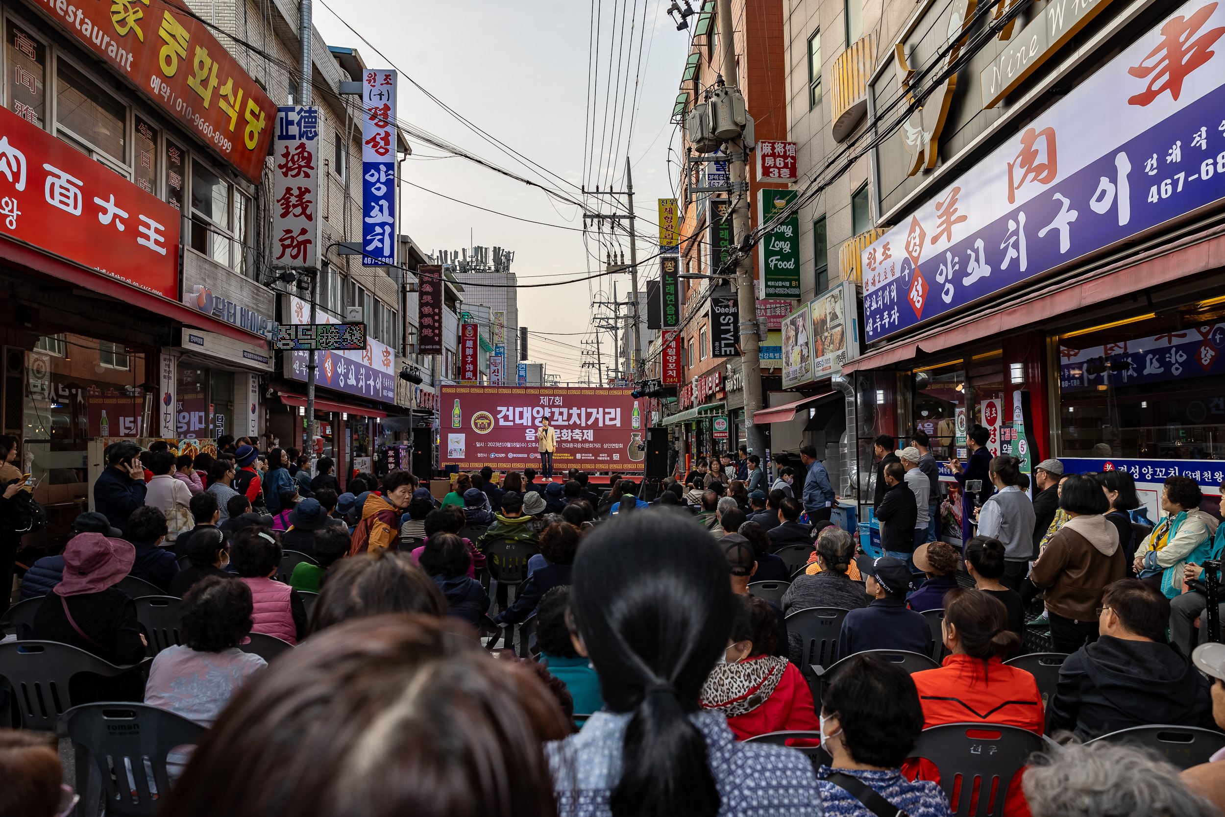
[[[0,233],[179,300],[179,211],[0,109]]]

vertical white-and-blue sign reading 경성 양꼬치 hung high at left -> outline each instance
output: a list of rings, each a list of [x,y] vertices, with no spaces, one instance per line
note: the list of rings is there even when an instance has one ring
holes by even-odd
[[[361,85],[361,266],[396,263],[396,72],[365,72]]]

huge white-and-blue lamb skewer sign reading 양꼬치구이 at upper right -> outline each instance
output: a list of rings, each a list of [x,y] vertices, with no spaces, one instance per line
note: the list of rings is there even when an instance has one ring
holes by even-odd
[[[866,247],[867,342],[1225,196],[1223,34],[1185,4]]]

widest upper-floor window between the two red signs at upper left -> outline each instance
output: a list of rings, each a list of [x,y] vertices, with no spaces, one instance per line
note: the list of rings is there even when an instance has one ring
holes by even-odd
[[[56,135],[82,153],[115,170],[116,162],[126,165],[127,108],[62,58],[55,61],[55,122]]]

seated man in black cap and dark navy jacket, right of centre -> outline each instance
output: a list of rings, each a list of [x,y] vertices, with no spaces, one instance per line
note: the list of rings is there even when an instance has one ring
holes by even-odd
[[[904,485],[903,490],[910,492]],[[846,614],[838,634],[839,658],[865,649],[905,649],[931,655],[933,643],[927,620],[907,609],[913,578],[907,563],[893,556],[856,556],[855,565],[875,600]]]

